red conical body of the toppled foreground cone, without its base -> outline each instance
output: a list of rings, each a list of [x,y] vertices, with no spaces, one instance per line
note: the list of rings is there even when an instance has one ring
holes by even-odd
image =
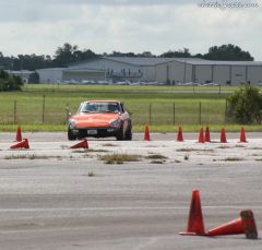
[[[222,236],[222,235],[240,235],[243,234],[242,218],[239,217],[231,222],[225,223],[207,231],[207,236]]]

